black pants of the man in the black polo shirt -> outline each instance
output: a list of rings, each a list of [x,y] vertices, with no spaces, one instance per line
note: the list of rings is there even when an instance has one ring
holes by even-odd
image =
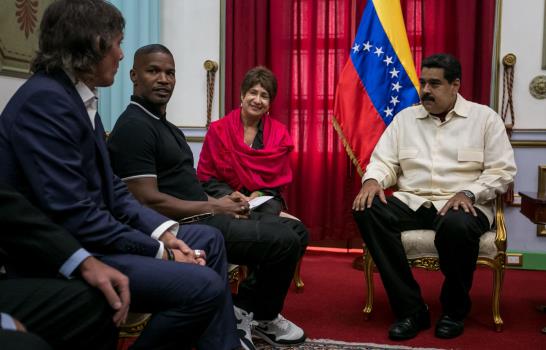
[[[281,312],[294,270],[305,252],[308,233],[298,220],[252,213],[249,219],[215,215],[203,223],[224,234],[228,261],[247,265],[252,278],[234,298],[257,320],[272,320]]]

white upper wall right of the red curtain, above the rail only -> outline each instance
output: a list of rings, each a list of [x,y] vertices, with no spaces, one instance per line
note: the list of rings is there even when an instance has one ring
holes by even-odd
[[[537,100],[529,92],[531,80],[546,74],[541,69],[545,2],[502,1],[500,58],[507,53],[517,58],[513,94],[516,129],[546,129],[546,99]],[[502,85],[499,90],[500,105]]]

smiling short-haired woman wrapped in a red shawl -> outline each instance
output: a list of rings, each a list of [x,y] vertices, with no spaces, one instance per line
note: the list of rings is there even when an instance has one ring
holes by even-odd
[[[251,200],[273,196],[256,211],[278,215],[281,191],[292,181],[294,148],[286,127],[269,116],[277,79],[265,67],[249,70],[241,84],[241,107],[213,122],[205,137],[197,176],[213,197]]]

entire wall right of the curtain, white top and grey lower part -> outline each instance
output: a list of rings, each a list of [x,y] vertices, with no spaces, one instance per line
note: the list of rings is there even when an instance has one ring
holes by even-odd
[[[538,166],[546,165],[546,99],[538,100],[529,92],[529,83],[537,75],[544,75],[542,45],[544,28],[544,0],[503,0],[500,37],[500,59],[516,55],[514,74],[515,132],[512,141],[518,166],[515,181],[518,191],[537,191]],[[499,106],[502,98],[502,64]],[[521,147],[518,142],[530,140],[536,147]],[[536,235],[536,225],[520,212],[519,207],[506,209],[508,249],[545,252],[546,238]]]

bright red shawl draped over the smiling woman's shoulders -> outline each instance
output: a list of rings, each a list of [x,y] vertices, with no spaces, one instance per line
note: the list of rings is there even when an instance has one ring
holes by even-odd
[[[268,115],[262,116],[262,125],[264,148],[252,149],[244,143],[240,108],[212,123],[199,157],[199,180],[215,178],[236,191],[244,187],[251,192],[292,182],[292,138],[282,123]]]

